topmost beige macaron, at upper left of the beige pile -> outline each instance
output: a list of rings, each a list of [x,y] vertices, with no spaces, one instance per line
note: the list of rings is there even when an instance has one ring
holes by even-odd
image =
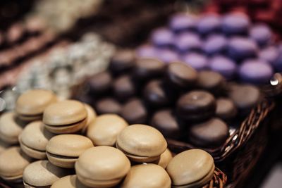
[[[56,102],[56,96],[53,92],[33,89],[18,97],[15,111],[21,120],[40,120],[44,109],[54,102]]]

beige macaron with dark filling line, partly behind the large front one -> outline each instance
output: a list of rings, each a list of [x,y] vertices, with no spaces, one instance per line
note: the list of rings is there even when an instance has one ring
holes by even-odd
[[[82,135],[60,134],[49,140],[46,153],[52,164],[62,168],[73,168],[78,157],[93,146],[92,141]]]

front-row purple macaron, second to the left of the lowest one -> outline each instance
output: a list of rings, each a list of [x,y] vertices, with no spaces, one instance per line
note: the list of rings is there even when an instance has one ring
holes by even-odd
[[[207,57],[195,52],[183,55],[182,60],[196,70],[204,70],[208,68]]]

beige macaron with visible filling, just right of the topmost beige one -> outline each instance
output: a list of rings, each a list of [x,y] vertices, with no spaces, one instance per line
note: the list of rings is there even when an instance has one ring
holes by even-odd
[[[87,123],[87,110],[80,101],[59,101],[47,106],[43,122],[47,130],[56,134],[78,132]]]

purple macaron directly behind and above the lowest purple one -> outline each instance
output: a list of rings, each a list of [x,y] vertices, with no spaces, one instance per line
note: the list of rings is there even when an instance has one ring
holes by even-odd
[[[228,56],[235,61],[243,61],[246,58],[255,58],[258,53],[255,41],[246,37],[232,37],[228,42]]]

